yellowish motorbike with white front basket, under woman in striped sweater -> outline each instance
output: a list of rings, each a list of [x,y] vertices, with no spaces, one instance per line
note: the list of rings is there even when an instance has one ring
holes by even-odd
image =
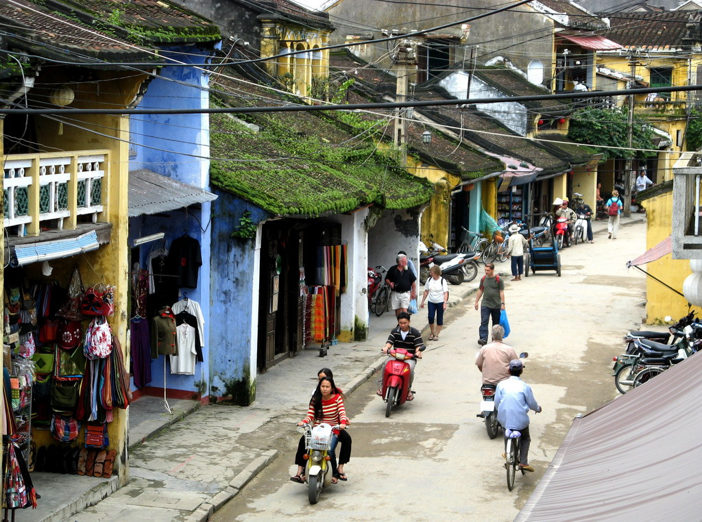
[[[319,502],[319,495],[322,494],[324,486],[331,484],[333,470],[331,469],[331,436],[340,426],[330,424],[318,424],[310,427],[310,424],[303,424],[297,427],[298,431],[305,435],[305,481],[307,482],[307,498],[310,504]]]

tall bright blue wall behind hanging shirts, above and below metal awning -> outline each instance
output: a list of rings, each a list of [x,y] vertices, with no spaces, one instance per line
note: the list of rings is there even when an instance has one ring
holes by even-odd
[[[194,65],[206,65],[212,46],[171,48],[164,55]],[[209,106],[208,74],[194,67],[164,67],[153,79],[137,108],[202,108]],[[135,156],[129,170],[147,168],[180,182],[209,190],[209,119],[207,114],[150,114],[131,116],[131,142]],[[140,248],[140,265],[145,267],[152,246],[166,247],[185,232],[199,241],[202,266],[198,288],[185,288],[189,299],[199,302],[205,319],[204,363],[197,363],[195,375],[171,375],[166,370],[166,387],[197,391],[197,382],[209,389],[209,353],[211,340],[210,241],[211,203],[202,203],[200,210],[173,210],[162,215],[145,215],[129,220],[129,244],[141,236],[164,232],[163,240],[146,243]],[[132,260],[134,262],[135,260]],[[164,386],[164,356],[152,360],[152,387]]]

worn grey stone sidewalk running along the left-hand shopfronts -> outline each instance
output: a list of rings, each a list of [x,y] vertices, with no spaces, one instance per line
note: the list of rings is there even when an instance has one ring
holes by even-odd
[[[644,215],[638,214],[622,218],[621,226],[643,219]],[[606,239],[607,221],[596,221],[592,225],[595,241]],[[565,250],[563,255],[567,253]],[[633,253],[633,257],[638,254]],[[509,263],[498,264],[497,269],[498,273],[508,275]],[[451,286],[449,306],[475,291],[477,281],[476,278],[471,283]],[[448,313],[451,314],[450,309]],[[393,326],[392,312],[380,318],[372,316],[368,340],[336,344],[324,358],[319,357],[318,349],[308,349],[282,361],[258,375],[256,402],[252,406],[211,405],[188,409],[187,404],[179,404],[181,411],[188,410],[189,415],[164,429],[161,429],[163,422],[148,426],[153,418],[133,422],[130,436],[137,444],[131,447],[129,457],[130,481],[92,507],[62,519],[78,522],[206,520],[274,460],[277,448],[296,443],[298,434],[294,424],[307,410],[317,371],[323,367],[332,368],[336,383],[345,394],[351,394],[382,366],[385,357],[380,356],[380,347]],[[413,326],[428,330],[422,313]],[[163,400],[151,398],[151,401],[151,417],[163,417],[163,413],[159,413]],[[287,479],[287,476],[281,477],[282,481]]]

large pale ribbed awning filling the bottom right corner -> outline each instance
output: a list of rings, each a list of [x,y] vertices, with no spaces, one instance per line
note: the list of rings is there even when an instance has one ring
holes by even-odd
[[[701,372],[693,355],[576,418],[515,522],[699,520]]]

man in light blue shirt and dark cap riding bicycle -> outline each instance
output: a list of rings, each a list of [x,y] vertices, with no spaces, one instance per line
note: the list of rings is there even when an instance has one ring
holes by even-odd
[[[510,378],[503,380],[497,385],[495,391],[495,409],[497,410],[497,420],[505,429],[516,430],[522,434],[519,444],[519,469],[524,471],[534,471],[529,465],[529,446],[531,445],[531,435],[529,434],[529,410],[541,413],[541,406],[538,406],[534,399],[534,392],[531,386],[519,378],[524,371],[524,363],[519,359],[510,361]],[[505,436],[506,457],[508,439]]]

